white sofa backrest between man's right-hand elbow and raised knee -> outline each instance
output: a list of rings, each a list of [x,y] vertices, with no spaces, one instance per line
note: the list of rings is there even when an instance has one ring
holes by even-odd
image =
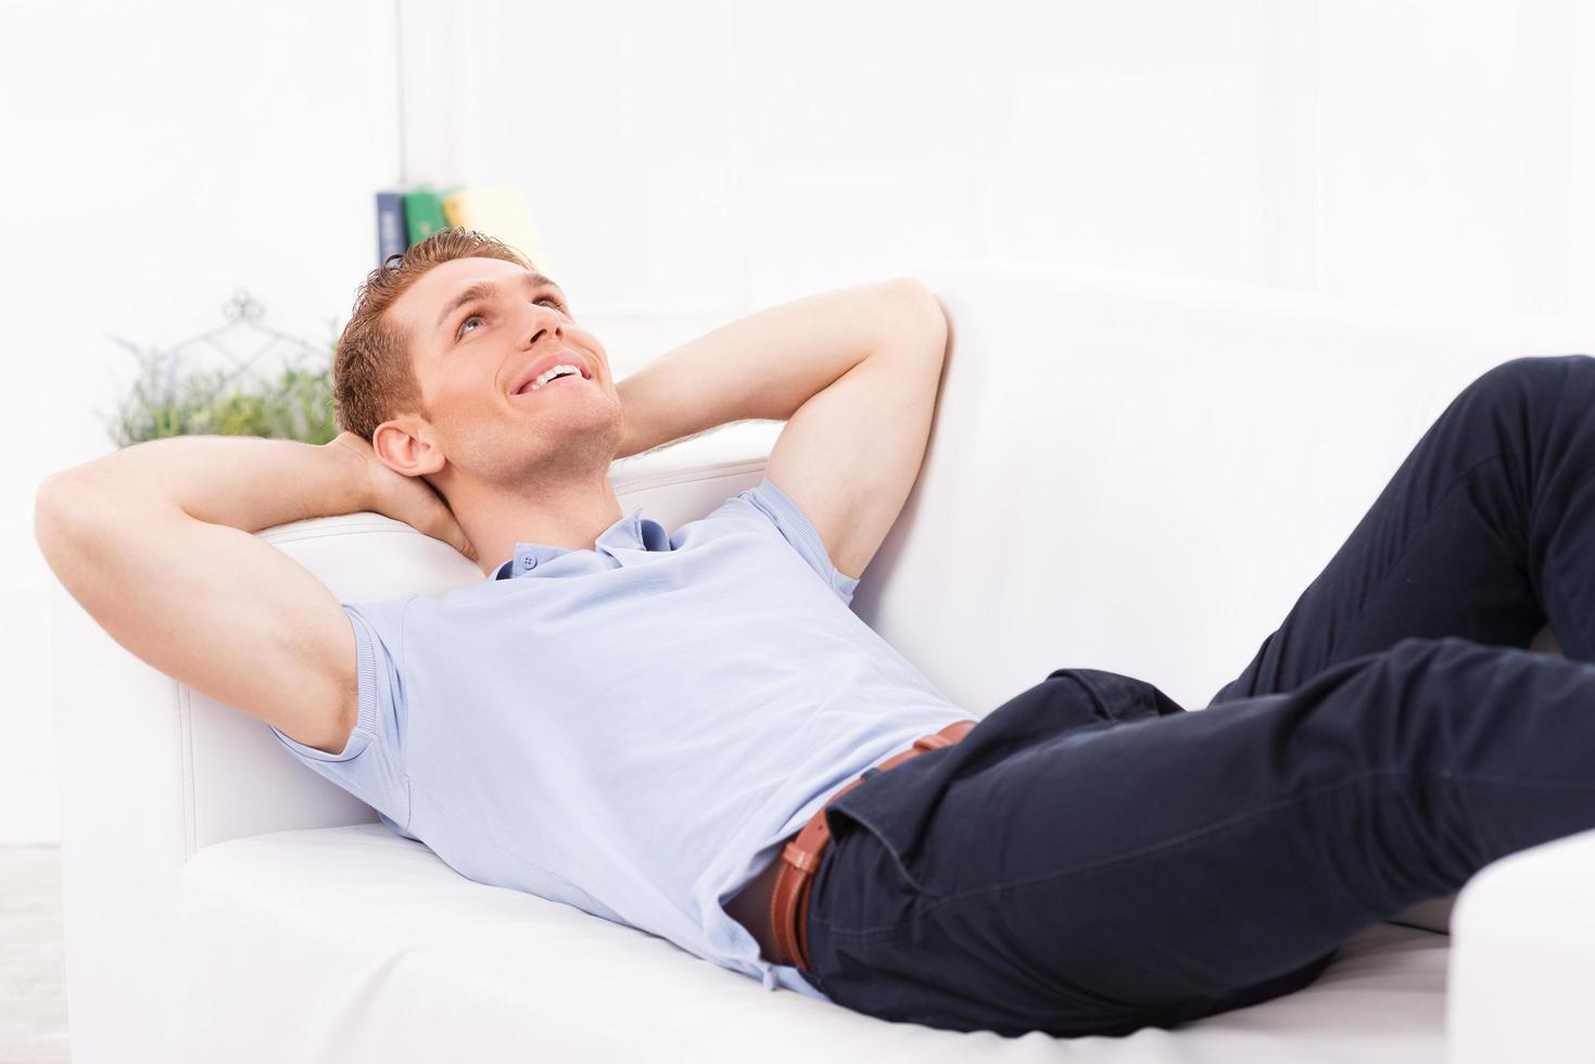
[[[951,263],[925,466],[855,611],[981,716],[1053,668],[1203,707],[1451,397],[1595,327],[1236,284]]]

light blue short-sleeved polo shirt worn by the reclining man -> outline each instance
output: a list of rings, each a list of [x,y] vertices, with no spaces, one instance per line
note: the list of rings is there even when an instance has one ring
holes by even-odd
[[[518,542],[494,579],[345,603],[360,715],[279,742],[461,876],[825,999],[723,903],[864,769],[967,718],[860,621],[767,477],[667,534]]]

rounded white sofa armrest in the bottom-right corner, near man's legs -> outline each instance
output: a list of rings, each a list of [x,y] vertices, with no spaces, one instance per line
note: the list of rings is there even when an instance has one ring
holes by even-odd
[[[1450,1064],[1587,1061],[1595,1046],[1595,831],[1504,857],[1451,914]]]

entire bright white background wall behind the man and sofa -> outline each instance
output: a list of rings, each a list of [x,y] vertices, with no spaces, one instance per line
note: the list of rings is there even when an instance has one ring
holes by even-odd
[[[56,833],[32,491],[110,447],[107,337],[172,343],[238,286],[325,335],[400,172],[522,185],[617,367],[967,255],[1595,319],[1574,0],[30,0],[6,30],[0,842]]]

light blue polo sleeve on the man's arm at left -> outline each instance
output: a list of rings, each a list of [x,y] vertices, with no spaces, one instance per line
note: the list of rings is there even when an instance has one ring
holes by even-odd
[[[359,719],[349,742],[327,753],[297,742],[276,726],[271,732],[295,758],[378,812],[405,834],[410,823],[410,775],[405,769],[404,614],[415,595],[388,603],[343,603],[354,629],[359,676]],[[413,836],[412,836],[413,837]]]

